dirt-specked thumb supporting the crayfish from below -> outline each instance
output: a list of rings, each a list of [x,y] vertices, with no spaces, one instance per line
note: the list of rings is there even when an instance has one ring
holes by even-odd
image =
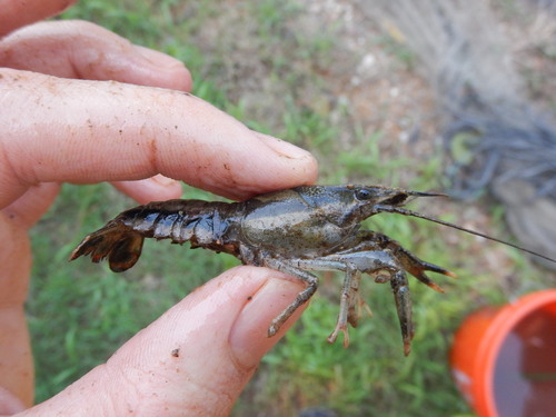
[[[234,268],[26,416],[227,416],[261,357],[299,317],[267,337],[301,289],[271,269]]]

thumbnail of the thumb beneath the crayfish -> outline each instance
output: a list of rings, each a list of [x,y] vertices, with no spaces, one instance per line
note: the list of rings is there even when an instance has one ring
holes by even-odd
[[[267,336],[272,319],[284,311],[301,290],[299,282],[271,278],[247,300],[230,332],[230,348],[239,364],[246,368],[257,366],[262,356],[295,322],[298,314],[290,317],[276,336]]]

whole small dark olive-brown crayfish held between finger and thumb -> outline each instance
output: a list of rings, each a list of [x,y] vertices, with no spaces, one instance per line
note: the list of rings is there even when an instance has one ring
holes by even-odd
[[[121,212],[103,228],[87,236],[70,259],[90,255],[93,262],[99,262],[108,258],[110,268],[120,272],[137,262],[143,239],[155,238],[170,239],[172,244],[189,241],[191,248],[231,254],[245,265],[292,275],[307,286],[272,320],[269,337],[276,335],[291,314],[317,290],[318,278],[309,271],[344,271],[340,311],[328,341],[334,342],[342,331],[345,346],[349,344],[347,325],[356,327],[359,307],[365,305],[358,288],[361,274],[368,274],[377,282],[390,282],[404,351],[408,355],[414,325],[406,272],[438,291],[441,291],[440,287],[425,272],[455,275],[417,258],[383,234],[363,229],[360,222],[379,212],[394,212],[500,241],[403,208],[413,198],[438,196],[444,195],[381,186],[305,186],[240,202],[150,202]]]

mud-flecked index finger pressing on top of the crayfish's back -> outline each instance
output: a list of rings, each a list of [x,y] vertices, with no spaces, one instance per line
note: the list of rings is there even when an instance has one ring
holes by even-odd
[[[311,183],[307,151],[180,91],[0,70],[0,207],[39,182],[162,173],[229,198]]]

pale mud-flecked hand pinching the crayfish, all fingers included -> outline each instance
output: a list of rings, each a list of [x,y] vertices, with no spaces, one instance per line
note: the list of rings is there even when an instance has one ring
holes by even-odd
[[[178,180],[242,199],[317,175],[308,152],[186,95],[191,76],[173,58],[82,21],[31,24],[72,2],[4,0],[0,9],[0,415],[226,416],[300,314],[267,337],[301,289],[270,269],[210,280],[33,406],[28,230],[62,182],[110,181],[143,203],[179,198]]]

